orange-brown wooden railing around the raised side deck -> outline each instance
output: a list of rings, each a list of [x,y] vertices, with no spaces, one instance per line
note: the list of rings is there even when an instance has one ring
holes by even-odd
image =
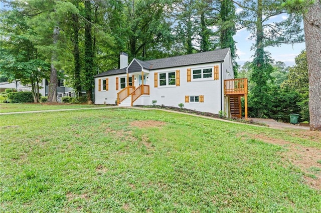
[[[224,94],[247,94],[247,78],[224,80]]]

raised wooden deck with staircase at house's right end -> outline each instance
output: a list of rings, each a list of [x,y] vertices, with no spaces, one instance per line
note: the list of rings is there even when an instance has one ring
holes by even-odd
[[[242,118],[241,96],[244,96],[247,119],[247,78],[224,80],[224,95],[229,97],[231,117]]]

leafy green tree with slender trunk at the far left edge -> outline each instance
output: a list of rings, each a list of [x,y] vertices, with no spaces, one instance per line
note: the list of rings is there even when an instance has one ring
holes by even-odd
[[[28,23],[29,17],[15,6],[12,10],[2,11],[0,16],[0,32],[6,37],[0,46],[1,75],[8,80],[20,79],[24,84],[30,83],[37,102],[39,82],[48,76],[49,64],[32,39],[35,32]]]

